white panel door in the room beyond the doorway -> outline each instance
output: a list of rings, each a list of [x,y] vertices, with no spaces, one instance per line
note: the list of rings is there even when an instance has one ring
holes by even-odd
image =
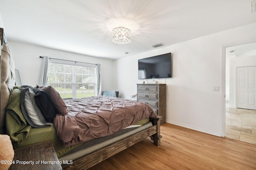
[[[256,110],[256,66],[237,68],[236,106]]]

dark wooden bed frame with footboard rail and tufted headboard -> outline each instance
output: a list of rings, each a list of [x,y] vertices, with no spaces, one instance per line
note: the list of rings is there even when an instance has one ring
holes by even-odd
[[[1,43],[4,40],[4,29],[0,28],[0,40]],[[5,38],[6,40],[6,38]],[[2,49],[2,48],[1,48]],[[5,64],[2,62],[2,55],[0,53],[1,57],[1,65]],[[10,56],[11,58],[11,56]],[[8,59],[10,60],[10,59]],[[10,63],[9,63],[10,64]],[[3,70],[4,68],[10,68],[10,66],[1,66],[1,72],[8,72],[10,70]],[[1,75],[2,79],[2,75]],[[14,80],[9,80],[14,81]],[[6,89],[12,89],[13,87],[10,86],[10,84],[4,84],[5,82],[1,82],[1,106],[0,106],[0,134],[5,134],[5,115],[6,115],[6,105],[10,96],[10,90]],[[12,82],[11,84],[14,84]],[[6,94],[9,93],[9,94]],[[7,102],[4,102],[7,101]],[[134,135],[128,136],[125,139],[122,139],[120,141],[117,141],[115,143],[112,143],[106,147],[103,147],[101,149],[98,149],[90,154],[86,154],[85,156],[81,156],[80,158],[77,158],[73,160],[72,164],[64,164],[62,165],[63,169],[71,170],[71,169],[88,169],[95,164],[102,162],[103,160],[113,156],[114,154],[146,139],[147,137],[150,137],[152,141],[154,141],[154,145],[159,146],[160,145],[160,139],[162,136],[160,135],[160,119],[162,117],[158,116],[157,119],[150,120],[152,122],[152,127],[148,127],[145,130],[142,130],[138,133],[135,133]]]

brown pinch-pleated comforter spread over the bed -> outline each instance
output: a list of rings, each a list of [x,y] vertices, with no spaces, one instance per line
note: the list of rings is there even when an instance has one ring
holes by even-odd
[[[94,96],[65,102],[68,115],[57,114],[54,119],[64,147],[110,135],[144,118],[156,118],[147,104],[122,98]]]

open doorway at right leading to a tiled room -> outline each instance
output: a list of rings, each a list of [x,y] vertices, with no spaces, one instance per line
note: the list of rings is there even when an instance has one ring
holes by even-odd
[[[237,84],[237,80],[239,79],[237,74],[240,72],[237,68],[248,66],[252,68],[252,66],[256,65],[255,63],[256,43],[226,47],[225,137],[253,144],[256,144],[256,110],[244,109],[244,107],[237,108],[240,107],[238,98],[240,98],[241,101],[243,100],[244,103],[247,98],[246,93],[242,96],[242,93],[237,91],[240,85]],[[246,71],[242,72],[244,73]],[[244,77],[241,77],[240,81],[242,81],[243,78]],[[252,99],[252,94],[250,95]],[[252,103],[252,100],[250,102]]]

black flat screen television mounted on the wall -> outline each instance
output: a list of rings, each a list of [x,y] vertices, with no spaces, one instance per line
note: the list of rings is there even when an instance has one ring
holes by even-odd
[[[172,77],[171,53],[138,60],[139,79]]]

